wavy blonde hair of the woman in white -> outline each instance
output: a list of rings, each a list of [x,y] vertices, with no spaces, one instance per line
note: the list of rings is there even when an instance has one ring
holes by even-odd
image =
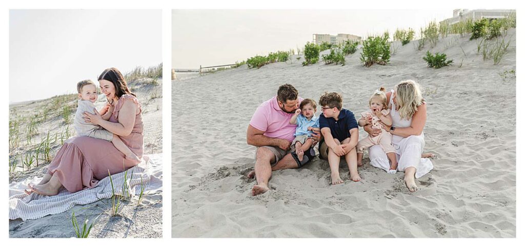
[[[425,99],[421,95],[419,84],[413,80],[397,83],[394,87],[396,92],[396,108],[402,119],[411,119]]]

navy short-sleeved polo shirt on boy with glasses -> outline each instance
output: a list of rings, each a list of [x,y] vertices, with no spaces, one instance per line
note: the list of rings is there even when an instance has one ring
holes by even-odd
[[[337,121],[335,121],[334,118],[325,118],[323,114],[319,116],[319,128],[323,129],[325,127],[330,128],[334,139],[343,141],[350,137],[351,129],[358,128],[358,121],[355,120],[352,111],[341,109]],[[324,139],[322,141],[324,141]]]

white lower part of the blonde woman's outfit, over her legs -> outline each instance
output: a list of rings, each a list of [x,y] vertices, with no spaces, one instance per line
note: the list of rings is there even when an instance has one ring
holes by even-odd
[[[425,136],[409,136],[401,138],[393,136],[392,146],[397,158],[397,170],[404,172],[408,167],[416,168],[416,178],[422,177],[434,168],[430,159],[421,158],[425,147]],[[374,145],[369,149],[370,164],[385,171],[390,170],[388,157],[380,145]]]

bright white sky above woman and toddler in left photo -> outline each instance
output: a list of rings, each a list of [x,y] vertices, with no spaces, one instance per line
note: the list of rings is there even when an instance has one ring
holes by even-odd
[[[106,68],[162,62],[162,10],[10,10],[9,103],[77,92]]]

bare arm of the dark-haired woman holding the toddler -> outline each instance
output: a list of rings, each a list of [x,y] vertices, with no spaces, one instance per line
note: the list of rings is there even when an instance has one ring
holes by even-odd
[[[119,111],[119,121],[110,122],[102,119],[102,116],[98,111],[95,114],[85,112],[84,118],[92,122],[93,124],[99,125],[102,128],[116,134],[117,136],[129,136],[135,125],[135,115],[137,115],[137,105],[133,104],[131,100],[125,100],[122,108]]]

